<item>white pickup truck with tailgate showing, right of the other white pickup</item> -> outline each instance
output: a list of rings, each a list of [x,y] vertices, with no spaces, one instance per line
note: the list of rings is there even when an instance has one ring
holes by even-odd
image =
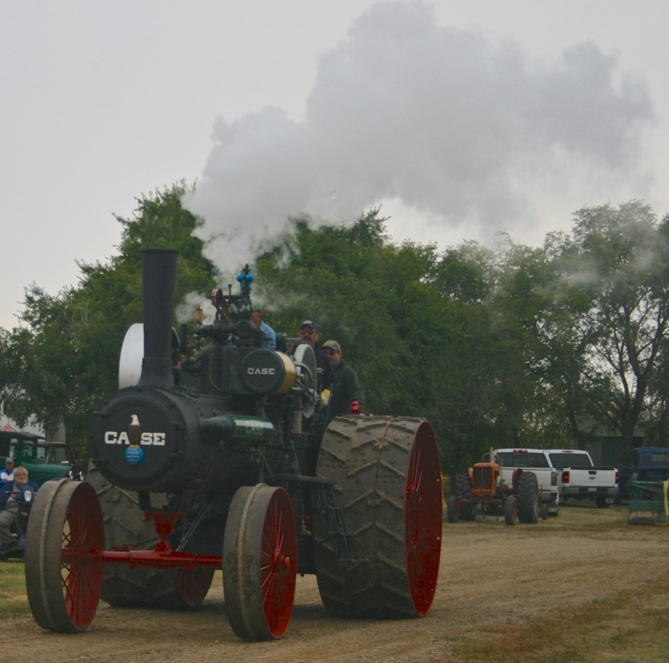
[[[579,449],[549,449],[553,467],[559,471],[560,495],[574,499],[592,499],[599,508],[613,504],[618,492],[615,467],[595,467],[590,453]]]

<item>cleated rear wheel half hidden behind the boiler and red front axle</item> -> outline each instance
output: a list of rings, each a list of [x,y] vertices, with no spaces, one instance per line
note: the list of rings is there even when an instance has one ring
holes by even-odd
[[[136,492],[109,483],[93,462],[89,463],[86,483],[93,486],[100,499],[105,549],[123,544],[134,550],[153,549],[158,536],[153,521],[144,520]],[[153,506],[166,501],[164,494],[151,494]],[[102,600],[112,607],[194,608],[207,595],[213,575],[213,568],[188,571],[105,564]]]

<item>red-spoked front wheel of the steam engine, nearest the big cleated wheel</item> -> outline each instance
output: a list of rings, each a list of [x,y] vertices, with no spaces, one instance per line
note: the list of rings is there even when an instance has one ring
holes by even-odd
[[[283,488],[241,487],[223,541],[228,619],[240,638],[282,637],[293,614],[298,541],[293,505]]]

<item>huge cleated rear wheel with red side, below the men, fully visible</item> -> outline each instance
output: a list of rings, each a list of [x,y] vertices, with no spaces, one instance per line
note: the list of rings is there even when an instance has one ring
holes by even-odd
[[[325,431],[317,474],[355,542],[337,556],[336,535],[314,514],[318,590],[331,614],[423,616],[436,591],[441,549],[441,473],[433,430],[421,419],[337,417]]]

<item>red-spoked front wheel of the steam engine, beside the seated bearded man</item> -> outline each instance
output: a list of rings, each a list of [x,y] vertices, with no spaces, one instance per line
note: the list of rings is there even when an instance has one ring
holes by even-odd
[[[102,510],[88,483],[40,487],[26,536],[26,588],[35,621],[63,633],[85,630],[98,609],[105,547]]]

